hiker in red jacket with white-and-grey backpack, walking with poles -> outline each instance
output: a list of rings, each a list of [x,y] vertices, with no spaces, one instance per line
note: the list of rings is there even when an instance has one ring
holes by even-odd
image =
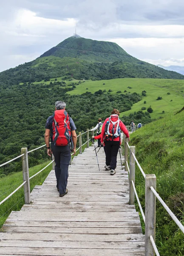
[[[111,116],[105,119],[102,126],[101,143],[105,143],[105,165],[110,169],[110,175],[116,173],[117,154],[121,142],[121,131],[129,138],[129,133],[124,123],[119,119],[119,111],[114,109]],[[104,140],[105,137],[105,140]]]

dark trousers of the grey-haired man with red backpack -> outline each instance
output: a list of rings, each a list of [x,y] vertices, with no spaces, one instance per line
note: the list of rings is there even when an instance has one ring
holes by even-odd
[[[56,186],[59,189],[59,194],[64,194],[66,192],[66,186],[68,183],[68,166],[71,160],[71,150],[69,145],[54,146],[54,143],[51,143],[51,149],[54,154],[54,160],[56,164]]]

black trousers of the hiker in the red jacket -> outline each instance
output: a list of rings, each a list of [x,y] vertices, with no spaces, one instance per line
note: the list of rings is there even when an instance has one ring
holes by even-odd
[[[116,168],[117,154],[119,151],[119,141],[106,140],[105,141],[105,163],[110,166],[110,169]]]

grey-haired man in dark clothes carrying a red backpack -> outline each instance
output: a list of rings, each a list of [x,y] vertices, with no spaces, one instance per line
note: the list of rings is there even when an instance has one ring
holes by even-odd
[[[51,157],[53,152],[55,160],[55,175],[57,190],[62,197],[68,193],[68,166],[71,160],[70,140],[73,144],[73,154],[76,152],[76,126],[65,111],[65,102],[57,101],[55,111],[49,116],[45,125],[45,143],[47,154]],[[51,137],[51,148],[49,146]]]

